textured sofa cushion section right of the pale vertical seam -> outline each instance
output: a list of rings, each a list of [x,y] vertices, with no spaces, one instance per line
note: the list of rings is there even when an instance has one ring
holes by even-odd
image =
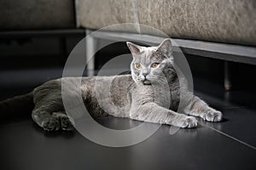
[[[137,0],[137,9],[141,24],[170,37],[256,45],[254,0]]]

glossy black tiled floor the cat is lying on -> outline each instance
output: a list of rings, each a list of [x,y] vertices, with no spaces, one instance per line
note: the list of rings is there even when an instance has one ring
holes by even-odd
[[[0,169],[256,169],[255,91],[227,93],[201,80],[195,83],[195,94],[223,111],[224,122],[200,121],[199,127],[172,135],[169,126],[161,126],[140,144],[110,148],[78,132],[44,133],[27,113],[0,124]],[[5,91],[2,98],[27,90]],[[116,129],[140,123],[114,117],[99,122]]]

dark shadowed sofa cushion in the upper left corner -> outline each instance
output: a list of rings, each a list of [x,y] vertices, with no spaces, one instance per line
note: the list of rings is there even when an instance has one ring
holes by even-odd
[[[0,29],[75,27],[73,0],[1,0]]]

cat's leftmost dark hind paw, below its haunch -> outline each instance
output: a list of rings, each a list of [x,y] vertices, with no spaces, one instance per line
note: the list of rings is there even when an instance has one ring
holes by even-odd
[[[54,116],[47,116],[42,122],[42,127],[45,131],[55,131],[60,129],[60,122]]]

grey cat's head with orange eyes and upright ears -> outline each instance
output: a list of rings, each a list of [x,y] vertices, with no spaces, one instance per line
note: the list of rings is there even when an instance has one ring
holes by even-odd
[[[137,83],[150,85],[160,82],[163,73],[174,72],[172,42],[166,39],[158,47],[142,47],[137,44],[127,42],[131,50],[131,76]]]

